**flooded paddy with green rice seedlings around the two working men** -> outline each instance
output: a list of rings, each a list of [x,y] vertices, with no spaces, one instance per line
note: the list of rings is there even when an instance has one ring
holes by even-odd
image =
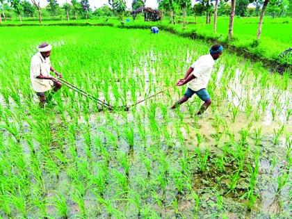
[[[141,30],[65,29],[71,34],[44,31],[67,81],[113,106],[169,89],[129,112],[99,112],[63,87],[54,106],[40,109],[27,78],[42,32],[26,42],[27,56],[7,49],[0,71],[14,80],[1,80],[2,218],[291,217],[287,74],[225,52],[209,82],[212,104],[197,117],[195,96],[170,110],[186,89],[173,85],[210,45]]]

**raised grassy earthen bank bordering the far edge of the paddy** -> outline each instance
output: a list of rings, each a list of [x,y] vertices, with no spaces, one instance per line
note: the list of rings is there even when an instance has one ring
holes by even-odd
[[[115,25],[113,23],[97,23],[97,24],[90,24],[86,23],[53,23],[53,24],[1,24],[1,26],[111,26],[117,27],[120,29],[150,29],[152,24],[143,24],[143,25],[135,25],[135,24],[118,24]],[[165,26],[165,25],[158,25],[159,29],[163,31],[168,31],[169,33],[179,35],[183,38],[190,38],[192,40],[204,40],[205,42],[211,42],[213,44],[218,43],[222,44],[228,51],[236,54],[237,56],[243,56],[244,58],[250,59],[252,62],[261,62],[264,67],[270,69],[272,72],[278,72],[279,74],[283,74],[284,72],[291,72],[292,65],[289,63],[283,63],[280,60],[275,58],[267,58],[261,56],[259,54],[253,53],[252,51],[243,48],[243,47],[236,47],[232,44],[229,44],[226,40],[218,40],[217,38],[207,37],[206,35],[202,35],[197,33],[196,31],[190,32],[179,32],[176,31],[172,26]],[[257,47],[254,45],[254,47]],[[289,74],[291,77],[292,75]]]

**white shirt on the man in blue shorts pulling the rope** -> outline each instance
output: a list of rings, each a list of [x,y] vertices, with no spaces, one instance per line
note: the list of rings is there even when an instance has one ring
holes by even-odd
[[[194,91],[206,88],[211,79],[214,63],[215,61],[210,54],[198,58],[195,63],[191,65],[194,69],[192,74],[195,76],[195,79],[188,82],[188,88]]]

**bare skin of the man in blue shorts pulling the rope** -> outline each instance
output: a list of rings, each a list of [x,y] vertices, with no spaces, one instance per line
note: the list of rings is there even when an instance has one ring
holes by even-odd
[[[220,52],[219,54],[211,54],[213,60],[217,60],[218,58],[220,58],[220,56],[222,55],[222,52]],[[195,79],[195,76],[193,74],[191,74],[193,72],[193,67],[189,67],[188,71],[186,72],[186,75],[184,76],[184,79],[179,79],[179,81],[176,83],[176,86],[184,86],[186,83],[188,83],[189,81],[192,81],[193,79]],[[184,96],[181,99],[179,99],[178,102],[176,102],[172,108],[177,108],[178,105],[183,104],[184,102],[188,101],[188,97]],[[197,112],[197,115],[201,115],[202,113],[204,113],[204,111],[206,110],[206,108],[208,108],[211,105],[211,99],[207,100],[206,102],[204,102],[204,104],[201,106],[199,112]]]

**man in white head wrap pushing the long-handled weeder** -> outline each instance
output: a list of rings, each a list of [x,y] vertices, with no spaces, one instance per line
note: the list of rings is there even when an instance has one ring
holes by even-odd
[[[57,92],[62,86],[50,74],[50,72],[54,72],[56,76],[62,78],[62,74],[56,72],[51,66],[49,56],[51,56],[51,45],[42,43],[38,46],[38,53],[31,58],[31,86],[38,95],[42,108],[44,103],[51,99],[52,93],[49,91],[53,88],[53,93]]]

